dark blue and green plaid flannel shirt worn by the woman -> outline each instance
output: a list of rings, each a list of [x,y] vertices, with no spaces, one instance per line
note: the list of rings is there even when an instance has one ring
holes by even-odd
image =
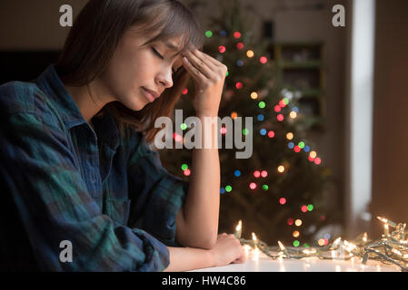
[[[85,121],[49,66],[0,86],[0,268],[162,271],[188,182],[103,109]],[[69,241],[73,261],[62,262]]]

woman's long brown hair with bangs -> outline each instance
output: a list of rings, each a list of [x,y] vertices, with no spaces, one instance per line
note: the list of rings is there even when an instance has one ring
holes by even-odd
[[[147,42],[166,40],[182,35],[182,46],[202,49],[204,31],[191,10],[177,0],[90,0],[78,14],[71,28],[55,69],[68,85],[87,85],[104,73],[124,33],[136,25]],[[144,43],[144,44],[147,44]],[[154,128],[160,116],[171,117],[190,77],[182,67],[174,73],[173,87],[150,102],[140,111],[133,111],[121,102],[105,107],[113,115],[120,131],[133,125],[143,131],[148,142],[154,140],[161,128]]]

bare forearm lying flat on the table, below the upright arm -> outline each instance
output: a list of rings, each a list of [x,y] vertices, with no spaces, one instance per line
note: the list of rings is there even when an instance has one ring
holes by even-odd
[[[170,265],[164,272],[180,272],[214,266],[209,250],[194,247],[168,247]]]

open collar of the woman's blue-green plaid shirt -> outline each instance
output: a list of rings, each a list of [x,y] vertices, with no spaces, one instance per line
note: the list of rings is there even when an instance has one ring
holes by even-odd
[[[38,87],[50,97],[50,101],[55,105],[65,127],[70,130],[75,126],[86,124],[73,97],[66,91],[64,83],[55,71],[55,65],[51,64],[44,73],[36,79]],[[114,121],[114,117],[104,107],[101,115],[97,114],[93,118],[95,131],[98,137],[102,138],[112,149],[116,149],[119,144],[119,131]]]

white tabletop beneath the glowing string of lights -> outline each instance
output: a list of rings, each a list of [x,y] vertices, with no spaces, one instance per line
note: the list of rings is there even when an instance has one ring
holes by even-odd
[[[401,269],[374,260],[368,260],[366,265],[363,265],[359,257],[352,257],[347,261],[323,260],[315,256],[273,260],[262,252],[255,255],[251,250],[243,264],[215,266],[192,272],[401,272]]]

